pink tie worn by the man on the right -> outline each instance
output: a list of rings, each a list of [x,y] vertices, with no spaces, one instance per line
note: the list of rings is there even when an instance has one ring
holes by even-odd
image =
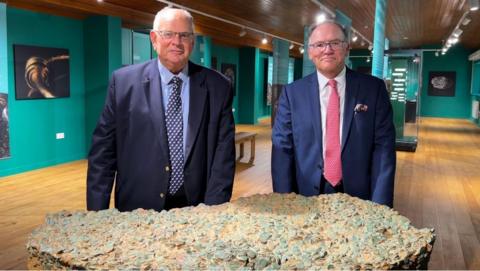
[[[342,160],[340,158],[340,98],[338,97],[337,81],[328,81],[330,98],[327,105],[326,147],[325,147],[325,178],[336,186],[342,179]]]

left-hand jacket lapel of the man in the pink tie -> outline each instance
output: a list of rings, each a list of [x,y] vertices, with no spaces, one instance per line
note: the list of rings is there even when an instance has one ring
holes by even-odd
[[[321,118],[321,109],[320,109],[320,93],[318,87],[318,78],[317,72],[314,72],[310,76],[309,80],[309,87],[308,87],[308,97],[307,99],[310,100],[311,110],[309,112],[312,113],[311,119],[313,121],[313,130],[315,138],[314,140],[320,147],[320,163],[323,166],[323,144],[322,144],[322,118]],[[307,119],[310,118],[309,116],[305,116]]]

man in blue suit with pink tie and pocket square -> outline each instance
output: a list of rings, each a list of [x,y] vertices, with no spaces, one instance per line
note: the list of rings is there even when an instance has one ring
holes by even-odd
[[[316,72],[282,90],[272,131],[273,190],[344,192],[392,207],[395,129],[385,84],[345,67],[343,27],[311,28]]]

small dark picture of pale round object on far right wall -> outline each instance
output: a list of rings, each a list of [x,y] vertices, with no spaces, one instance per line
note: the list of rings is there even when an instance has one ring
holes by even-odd
[[[429,96],[455,96],[456,72],[430,72],[428,74]]]

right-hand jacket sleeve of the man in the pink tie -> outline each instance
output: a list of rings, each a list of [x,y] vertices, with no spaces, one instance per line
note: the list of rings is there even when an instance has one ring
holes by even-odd
[[[387,89],[383,82],[379,84],[372,156],[372,201],[392,207],[396,167],[395,127]]]

